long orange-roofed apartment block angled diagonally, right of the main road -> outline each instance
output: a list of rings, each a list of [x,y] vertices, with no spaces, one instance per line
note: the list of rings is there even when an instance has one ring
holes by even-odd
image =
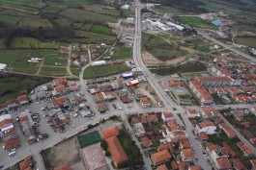
[[[191,80],[189,82],[189,88],[193,91],[193,93],[203,105],[209,105],[213,103],[212,95],[197,80]]]

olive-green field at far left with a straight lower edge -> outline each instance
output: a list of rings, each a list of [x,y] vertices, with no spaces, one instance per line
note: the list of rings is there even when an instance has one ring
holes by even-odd
[[[34,37],[14,37],[9,48],[29,48],[29,49],[59,49],[61,46],[60,42],[42,42]]]

